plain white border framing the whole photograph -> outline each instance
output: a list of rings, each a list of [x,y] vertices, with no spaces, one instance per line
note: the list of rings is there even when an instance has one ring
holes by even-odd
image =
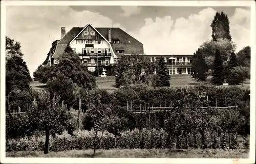
[[[251,7],[251,103],[250,153],[247,159],[210,158],[6,158],[5,110],[1,110],[2,163],[254,163],[255,162],[255,2],[254,1],[1,1],[1,108],[5,108],[5,22],[6,6],[247,6]]]

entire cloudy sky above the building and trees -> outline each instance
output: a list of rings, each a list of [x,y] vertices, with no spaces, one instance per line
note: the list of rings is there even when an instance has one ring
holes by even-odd
[[[193,54],[211,39],[216,12],[229,17],[237,51],[250,45],[250,8],[181,6],[7,6],[6,35],[19,41],[30,74],[45,61],[51,43],[74,26],[121,28],[143,43],[146,54]]]

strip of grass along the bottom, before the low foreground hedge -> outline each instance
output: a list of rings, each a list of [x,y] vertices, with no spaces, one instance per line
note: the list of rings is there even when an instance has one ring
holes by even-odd
[[[19,151],[6,152],[6,157],[92,157],[93,150],[70,150],[62,152]],[[96,150],[95,157],[102,158],[248,158],[245,149],[111,149]]]

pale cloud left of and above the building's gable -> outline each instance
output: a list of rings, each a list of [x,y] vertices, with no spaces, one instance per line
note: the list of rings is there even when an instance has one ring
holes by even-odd
[[[95,27],[109,27],[112,20],[99,13],[74,11],[67,6],[8,6],[6,35],[20,41],[30,74],[45,61],[51,43],[60,39],[60,28],[68,32],[74,26],[91,23]],[[119,23],[113,26],[125,30]]]

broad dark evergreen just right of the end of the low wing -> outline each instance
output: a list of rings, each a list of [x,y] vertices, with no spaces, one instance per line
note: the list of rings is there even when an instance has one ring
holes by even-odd
[[[191,63],[191,76],[197,81],[205,81],[207,78],[208,67],[205,63],[203,50],[198,48],[198,50],[194,53]]]

